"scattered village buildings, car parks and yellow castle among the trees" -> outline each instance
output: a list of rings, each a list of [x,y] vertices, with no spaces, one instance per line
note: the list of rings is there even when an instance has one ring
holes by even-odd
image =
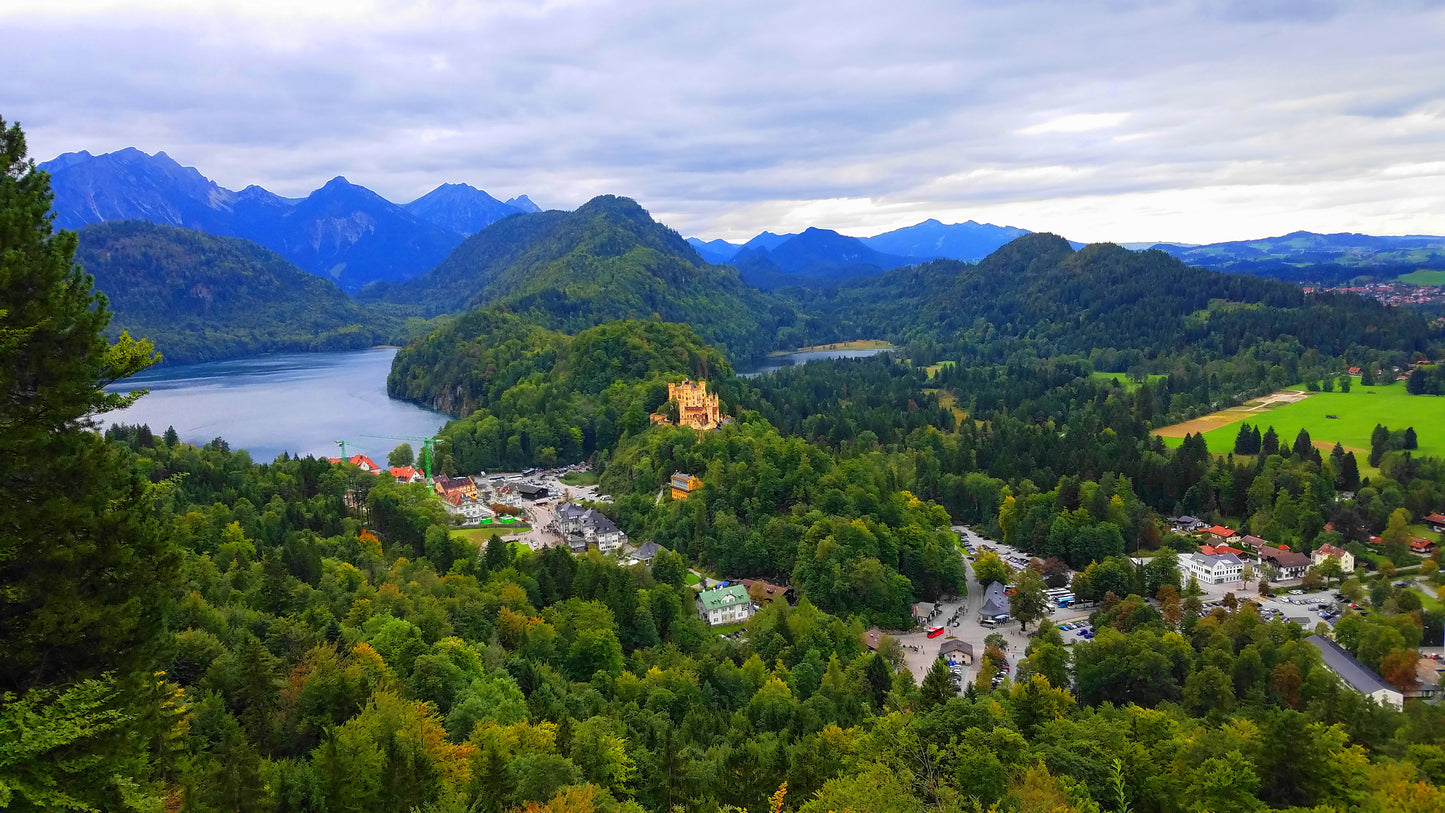
[[[676,423],[711,432],[730,420],[721,413],[717,394],[707,391],[705,381],[669,384],[668,394],[669,412],[652,414],[653,425]],[[670,410],[672,404],[675,412]],[[331,459],[334,464],[341,461]],[[416,466],[386,468],[366,455],[351,455],[345,462],[367,474],[392,477],[397,482],[428,482],[426,472]],[[510,544],[530,550],[565,546],[575,555],[597,552],[616,556],[626,566],[650,566],[666,550],[650,540],[639,543],[629,539],[605,514],[603,508],[611,498],[598,491],[595,477],[585,464],[467,477],[438,475],[429,482],[461,530],[493,530]],[[694,474],[673,472],[657,500],[686,500],[701,488],[702,481]],[[1380,703],[1400,708],[1405,699],[1438,699],[1445,692],[1441,687],[1445,648],[1422,648],[1425,657],[1419,660],[1416,686],[1400,692],[1331,638],[1334,622],[1345,611],[1368,609],[1351,602],[1344,594],[1328,589],[1328,579],[1342,581],[1355,572],[1357,565],[1373,569],[1371,562],[1357,562],[1350,550],[1332,544],[1324,544],[1309,555],[1299,553],[1192,516],[1168,517],[1165,523],[1168,527],[1163,530],[1198,543],[1196,550],[1178,553],[1178,568],[1185,589],[1199,596],[1199,617],[1220,607],[1235,608],[1250,602],[1266,621],[1280,619],[1312,631],[1315,634],[1308,641],[1319,650],[1322,661],[1345,684]],[[1445,514],[1431,514],[1423,523],[1435,533],[1445,531]],[[997,555],[1012,573],[1026,568],[1043,570],[1038,557],[980,536],[974,529],[954,526],[952,530],[965,562],[990,553]],[[1368,537],[1368,543],[1377,547],[1381,540]],[[1409,542],[1410,553],[1422,559],[1432,556],[1435,547],[1435,542],[1420,536],[1413,536]],[[1144,568],[1149,557],[1136,555],[1131,562],[1136,568]],[[967,563],[964,572],[964,595],[918,602],[913,605],[912,628],[871,627],[866,630],[863,644],[873,651],[900,653],[902,661],[918,682],[923,680],[936,660],[945,661],[954,689],[959,693],[977,677],[980,658],[988,653],[990,684],[1001,684],[1029,647],[1030,637],[1012,614],[1010,599],[1014,591],[1009,583],[991,581],[984,585]],[[1058,586],[1045,592],[1048,621],[1061,632],[1065,645],[1088,641],[1095,635],[1090,617],[1097,609],[1097,602],[1075,596],[1071,589],[1074,576],[1068,569],[1051,573],[1051,583]],[[1413,585],[1416,578],[1409,576],[1394,586]],[[717,579],[692,570],[689,582],[694,579],[696,615],[724,637],[744,634],[744,624],[772,602],[795,604],[799,598],[792,586],[763,578]],[[1259,588],[1256,595],[1247,592],[1251,585]],[[1157,604],[1153,598],[1149,602]]]

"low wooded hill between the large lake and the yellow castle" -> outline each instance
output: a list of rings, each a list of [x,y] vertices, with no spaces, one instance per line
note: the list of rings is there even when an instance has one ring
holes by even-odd
[[[454,471],[575,462],[649,426],[668,381],[733,375],[686,325],[620,321],[575,336],[474,310],[396,354],[387,393],[465,416],[441,432]]]

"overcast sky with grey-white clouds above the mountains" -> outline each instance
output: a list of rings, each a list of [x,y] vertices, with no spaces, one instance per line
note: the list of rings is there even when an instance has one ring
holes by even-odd
[[[0,0],[30,155],[685,235],[1445,234],[1445,0]]]

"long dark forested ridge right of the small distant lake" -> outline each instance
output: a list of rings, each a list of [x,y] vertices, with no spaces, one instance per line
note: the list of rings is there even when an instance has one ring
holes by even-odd
[[[1191,269],[1163,251],[1074,251],[1052,234],[1020,237],[978,264],[938,260],[792,296],[837,338],[952,344],[968,334],[1029,339],[1051,355],[1233,355],[1282,335],[1340,355],[1351,345],[1420,349],[1429,338],[1420,316],[1374,300],[1306,296],[1283,282]]]

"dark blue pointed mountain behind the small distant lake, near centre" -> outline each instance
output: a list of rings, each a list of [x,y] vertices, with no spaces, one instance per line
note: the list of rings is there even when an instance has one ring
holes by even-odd
[[[744,282],[763,290],[874,276],[912,264],[907,257],[876,251],[857,237],[827,228],[808,228],[775,243],[772,248],[764,248],[756,237],[749,244],[756,247],[743,247],[731,263]]]

